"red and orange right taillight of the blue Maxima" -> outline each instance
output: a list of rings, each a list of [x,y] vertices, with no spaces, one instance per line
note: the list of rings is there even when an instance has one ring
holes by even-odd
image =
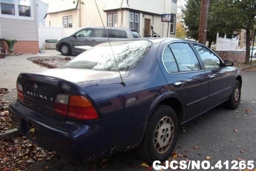
[[[54,111],[68,118],[79,120],[93,120],[99,118],[92,102],[81,95],[57,95]]]

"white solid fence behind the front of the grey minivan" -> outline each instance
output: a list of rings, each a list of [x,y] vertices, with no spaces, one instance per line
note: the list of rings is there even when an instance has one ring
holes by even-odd
[[[45,49],[45,40],[59,39],[70,36],[81,28],[57,28],[57,27],[38,27],[39,49]]]

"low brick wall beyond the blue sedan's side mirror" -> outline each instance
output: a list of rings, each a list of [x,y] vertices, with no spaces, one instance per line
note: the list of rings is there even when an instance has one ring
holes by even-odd
[[[232,59],[233,61],[244,61],[245,51],[214,51],[221,59]]]

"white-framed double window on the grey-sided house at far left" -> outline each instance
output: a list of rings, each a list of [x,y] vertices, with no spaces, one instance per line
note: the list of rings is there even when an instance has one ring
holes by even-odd
[[[1,14],[31,17],[31,0],[0,0]]]

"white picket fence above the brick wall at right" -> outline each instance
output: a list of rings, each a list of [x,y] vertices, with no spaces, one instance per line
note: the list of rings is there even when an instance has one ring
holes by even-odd
[[[225,35],[224,38],[220,38],[219,33],[217,33],[215,50],[237,50],[238,43],[239,43],[239,36],[235,38],[227,38]]]

